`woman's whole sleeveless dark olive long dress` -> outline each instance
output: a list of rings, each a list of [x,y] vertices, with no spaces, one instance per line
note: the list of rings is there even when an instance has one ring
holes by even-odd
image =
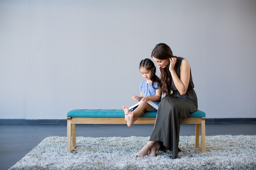
[[[175,71],[180,78],[180,65],[183,58],[177,60]],[[177,158],[179,152],[180,121],[198,109],[197,96],[190,73],[189,87],[184,95],[180,95],[172,82],[171,96],[163,97],[157,110],[155,128],[150,141],[159,141],[160,150],[172,151],[172,159]]]

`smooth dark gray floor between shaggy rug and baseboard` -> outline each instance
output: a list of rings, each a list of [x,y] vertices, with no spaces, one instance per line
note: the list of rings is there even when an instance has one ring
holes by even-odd
[[[150,136],[153,125],[76,125],[77,136]],[[181,124],[180,135],[195,135],[195,125]],[[206,135],[256,135],[256,122],[206,123]],[[48,136],[67,136],[67,124],[0,124],[0,170],[8,170]]]

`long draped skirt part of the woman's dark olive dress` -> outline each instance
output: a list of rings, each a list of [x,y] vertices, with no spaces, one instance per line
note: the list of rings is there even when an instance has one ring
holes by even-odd
[[[191,102],[174,97],[164,97],[159,103],[155,128],[150,141],[159,141],[160,150],[172,151],[172,158],[179,152],[180,121],[189,116]]]

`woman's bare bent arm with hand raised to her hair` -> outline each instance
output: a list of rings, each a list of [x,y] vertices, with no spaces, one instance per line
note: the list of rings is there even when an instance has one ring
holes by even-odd
[[[169,71],[173,78],[173,82],[175,87],[180,92],[181,95],[184,95],[189,87],[189,79],[190,79],[190,65],[188,60],[183,59],[180,65],[180,78],[177,76],[177,73],[174,70],[174,66],[176,64],[177,58],[170,59],[170,67]]]

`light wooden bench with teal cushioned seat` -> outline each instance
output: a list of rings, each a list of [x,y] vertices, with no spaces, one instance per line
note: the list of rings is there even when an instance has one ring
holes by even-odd
[[[134,124],[155,124],[157,112],[146,112]],[[76,109],[67,113],[67,152],[76,148],[76,124],[127,124],[122,109]],[[205,113],[197,110],[180,124],[195,124],[195,148],[205,152]],[[201,147],[199,147],[201,125]],[[71,146],[72,139],[72,146]],[[80,148],[83,149],[83,148]]]

